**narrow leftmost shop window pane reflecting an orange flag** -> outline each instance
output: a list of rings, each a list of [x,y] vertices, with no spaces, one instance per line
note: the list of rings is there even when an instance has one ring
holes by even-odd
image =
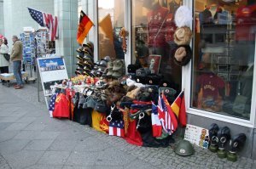
[[[99,58],[124,59],[119,31],[125,26],[125,0],[98,0]]]

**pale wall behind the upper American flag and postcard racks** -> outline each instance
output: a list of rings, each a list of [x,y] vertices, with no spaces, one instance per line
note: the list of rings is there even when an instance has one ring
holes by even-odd
[[[26,7],[54,14],[54,0],[3,0],[4,36],[9,41],[12,35],[19,36],[23,31],[23,27],[31,26],[36,30],[38,29],[38,23],[32,20]]]

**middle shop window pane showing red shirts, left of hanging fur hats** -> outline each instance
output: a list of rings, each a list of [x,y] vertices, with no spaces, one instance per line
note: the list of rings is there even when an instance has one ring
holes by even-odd
[[[176,48],[174,14],[180,0],[132,0],[132,64],[148,67],[159,62],[159,74],[181,89],[182,69],[173,62]],[[156,61],[155,61],[156,60]],[[157,71],[157,70],[156,70]],[[157,72],[154,72],[157,73]]]

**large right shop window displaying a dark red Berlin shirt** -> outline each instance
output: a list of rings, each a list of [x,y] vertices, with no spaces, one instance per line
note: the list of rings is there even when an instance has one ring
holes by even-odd
[[[250,119],[255,32],[255,1],[195,0],[193,108]]]

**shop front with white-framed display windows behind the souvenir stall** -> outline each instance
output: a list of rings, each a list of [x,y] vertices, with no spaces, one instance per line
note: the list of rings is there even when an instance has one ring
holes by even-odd
[[[185,66],[172,59],[173,19],[180,5],[191,8],[194,18],[193,59]],[[88,37],[95,43],[95,59],[109,55],[125,59],[126,66],[150,66],[148,57],[160,57],[159,73],[177,91],[185,91],[188,123],[227,126],[231,136],[244,132],[241,154],[256,158],[255,1],[82,0],[80,9],[96,25]],[[129,32],[126,53],[122,27]]]

